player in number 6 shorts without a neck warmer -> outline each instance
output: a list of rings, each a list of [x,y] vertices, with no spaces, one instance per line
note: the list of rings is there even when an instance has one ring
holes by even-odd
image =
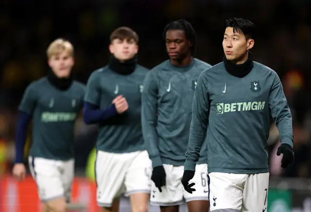
[[[142,93],[142,132],[153,166],[151,204],[178,212],[185,199],[190,212],[203,212],[208,210],[206,149],[192,179],[196,192],[184,191],[181,177],[194,90],[200,73],[211,66],[193,58],[196,35],[188,21],[169,23],[163,37],[170,59],[148,72]]]

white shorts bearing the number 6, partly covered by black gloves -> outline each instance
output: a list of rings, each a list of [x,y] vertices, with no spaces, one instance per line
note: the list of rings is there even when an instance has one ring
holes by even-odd
[[[181,184],[181,178],[184,174],[184,166],[173,166],[163,164],[166,173],[166,186],[163,186],[162,192],[155,187],[152,182],[152,193],[150,195],[150,203],[159,206],[180,205],[184,201],[208,200],[208,182],[207,182],[207,164],[198,164],[195,166],[195,175],[189,181],[194,182],[192,187],[196,189],[192,194],[184,190]]]

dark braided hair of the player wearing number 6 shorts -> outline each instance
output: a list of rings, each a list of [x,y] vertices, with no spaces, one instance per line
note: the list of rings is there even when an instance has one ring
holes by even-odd
[[[191,55],[194,56],[195,55],[195,51],[196,51],[196,34],[195,31],[192,27],[192,25],[184,19],[179,19],[176,21],[172,21],[170,22],[168,25],[166,25],[166,27],[164,28],[163,31],[163,39],[165,39],[166,37],[166,32],[168,30],[182,30],[185,32],[186,38],[187,40],[189,40],[191,42]]]

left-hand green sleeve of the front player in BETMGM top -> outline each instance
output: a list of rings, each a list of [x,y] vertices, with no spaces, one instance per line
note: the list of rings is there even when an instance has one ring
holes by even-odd
[[[192,102],[192,120],[184,170],[195,171],[196,162],[207,133],[209,96],[204,72],[199,76]]]

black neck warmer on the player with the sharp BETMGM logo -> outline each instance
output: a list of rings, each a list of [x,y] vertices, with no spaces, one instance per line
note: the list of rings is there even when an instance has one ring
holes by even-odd
[[[253,66],[254,66],[253,53],[248,52],[248,58],[246,62],[243,64],[239,64],[239,65],[231,63],[224,56],[224,65],[225,65],[225,70],[229,74],[242,78],[246,76],[253,69]]]

